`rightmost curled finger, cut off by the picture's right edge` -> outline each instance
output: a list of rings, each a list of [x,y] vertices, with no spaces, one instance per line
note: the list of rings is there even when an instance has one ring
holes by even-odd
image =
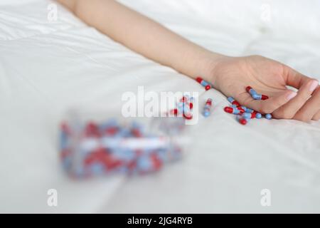
[[[314,118],[314,115],[320,110],[320,87],[318,87],[311,98],[306,101],[302,108],[294,115],[294,120],[307,122]]]

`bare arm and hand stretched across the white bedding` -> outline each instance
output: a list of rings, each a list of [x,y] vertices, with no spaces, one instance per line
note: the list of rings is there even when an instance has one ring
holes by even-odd
[[[274,118],[320,119],[316,79],[262,56],[230,57],[206,50],[113,0],[57,0],[89,26],[137,53],[191,78],[202,76],[240,104]],[[268,100],[254,100],[247,86]],[[297,88],[297,93],[287,86]]]

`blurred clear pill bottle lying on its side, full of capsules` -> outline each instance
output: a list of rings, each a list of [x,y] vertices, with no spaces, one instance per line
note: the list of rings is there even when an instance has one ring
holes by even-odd
[[[181,117],[124,117],[101,107],[71,108],[60,124],[60,160],[73,178],[145,175],[181,160],[188,147]]]

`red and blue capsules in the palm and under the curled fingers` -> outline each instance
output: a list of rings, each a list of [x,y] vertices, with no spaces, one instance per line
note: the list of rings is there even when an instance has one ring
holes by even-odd
[[[247,93],[250,93],[253,99],[255,100],[267,100],[267,95],[262,95],[257,93],[254,89],[252,89],[250,86],[247,86],[246,88]],[[227,106],[224,108],[226,113],[231,113],[237,115],[236,119],[238,122],[242,125],[246,125],[250,119],[261,119],[262,114],[258,113],[256,110],[252,110],[250,108],[247,108],[245,106],[241,106],[240,103],[235,100],[233,97],[229,97],[228,101],[230,102],[230,106]],[[265,118],[268,120],[272,119],[271,114],[265,114]]]

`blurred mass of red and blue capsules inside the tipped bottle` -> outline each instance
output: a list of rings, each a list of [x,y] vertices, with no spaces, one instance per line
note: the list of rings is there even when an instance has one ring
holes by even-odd
[[[63,123],[60,128],[60,158],[71,177],[145,174],[181,157],[181,147],[169,138],[147,133],[136,122],[120,125],[112,119],[71,126]],[[169,128],[178,129],[176,125]]]

